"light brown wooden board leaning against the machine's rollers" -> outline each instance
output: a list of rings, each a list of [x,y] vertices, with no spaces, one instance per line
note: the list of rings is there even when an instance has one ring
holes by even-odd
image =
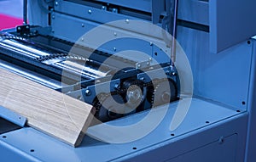
[[[8,70],[0,69],[0,105],[27,119],[27,125],[79,146],[94,109]]]

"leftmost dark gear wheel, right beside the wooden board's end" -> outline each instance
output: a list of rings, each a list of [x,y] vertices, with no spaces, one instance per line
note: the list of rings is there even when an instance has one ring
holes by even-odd
[[[95,102],[96,118],[102,122],[114,120],[125,114],[125,102],[119,95],[101,94]]]

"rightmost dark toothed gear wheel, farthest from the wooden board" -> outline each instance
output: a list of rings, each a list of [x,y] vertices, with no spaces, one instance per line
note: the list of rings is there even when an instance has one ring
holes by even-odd
[[[151,98],[151,103],[153,107],[170,103],[176,99],[177,87],[172,79],[164,79],[157,81],[157,83],[154,86],[154,92],[152,93]]]

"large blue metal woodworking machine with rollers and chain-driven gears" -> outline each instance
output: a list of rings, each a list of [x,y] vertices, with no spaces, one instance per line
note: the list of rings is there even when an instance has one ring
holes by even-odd
[[[5,116],[1,158],[253,161],[255,5],[25,0],[24,25],[0,32],[0,67],[96,114],[78,148]]]

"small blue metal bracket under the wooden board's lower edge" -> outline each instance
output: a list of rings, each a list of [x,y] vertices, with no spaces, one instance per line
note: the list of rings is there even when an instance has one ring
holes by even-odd
[[[2,117],[5,120],[9,120],[17,126],[24,127],[26,124],[25,117],[18,115],[9,109],[3,108],[2,106],[0,106],[0,117]]]

